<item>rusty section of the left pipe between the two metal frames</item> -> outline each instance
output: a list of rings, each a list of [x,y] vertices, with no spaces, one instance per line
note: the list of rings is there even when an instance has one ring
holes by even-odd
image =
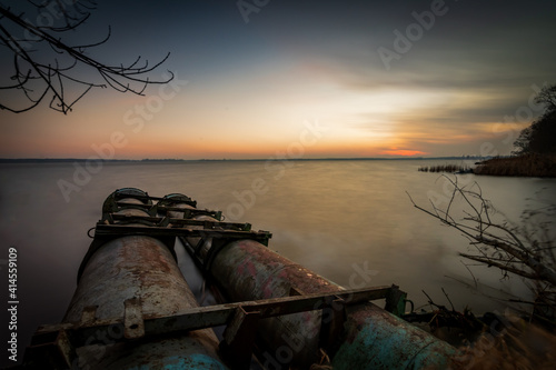
[[[139,297],[145,313],[160,316],[195,302],[162,242],[142,236],[113,239],[90,258],[63,321],[79,321],[88,306],[98,306],[98,319],[123,317],[123,302]]]

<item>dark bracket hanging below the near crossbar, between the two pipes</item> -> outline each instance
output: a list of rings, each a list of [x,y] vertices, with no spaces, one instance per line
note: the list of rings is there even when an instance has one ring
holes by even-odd
[[[220,350],[232,369],[249,369],[260,311],[238,307],[224,331]]]

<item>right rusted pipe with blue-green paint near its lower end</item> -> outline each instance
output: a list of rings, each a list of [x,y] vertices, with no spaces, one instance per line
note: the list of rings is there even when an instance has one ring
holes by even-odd
[[[186,249],[230,301],[248,301],[291,294],[342,291],[344,288],[297,264],[254,240],[239,240],[216,250]],[[212,244],[212,240],[205,241]],[[210,246],[209,246],[210,248]],[[324,326],[345,316],[341,327]],[[328,320],[329,319],[329,320]],[[259,322],[259,359],[267,369],[307,369],[318,361],[320,348],[334,369],[444,369],[455,349],[434,336],[373,304],[265,319]]]

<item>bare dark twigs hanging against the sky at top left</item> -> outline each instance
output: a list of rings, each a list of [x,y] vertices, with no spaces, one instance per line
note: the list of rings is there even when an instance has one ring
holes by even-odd
[[[13,56],[13,72],[10,79],[14,81],[0,89],[19,91],[29,102],[23,108],[0,103],[0,109],[14,113],[29,111],[50,96],[50,108],[67,114],[93,88],[110,87],[119,92],[142,96],[147,86],[167,83],[173,78],[171,72],[169,72],[169,78],[163,80],[153,80],[148,77],[150,72],[166,62],[169,53],[152,66],[149,66],[148,61],[140,64],[141,57],[128,66],[110,66],[88,57],[91,48],[108,41],[110,29],[105,39],[81,46],[67,44],[61,37],[54,36],[54,33],[75,30],[88,20],[90,11],[96,7],[93,1],[76,1],[71,6],[59,0],[30,3],[39,12],[56,12],[60,16],[62,24],[60,27],[37,26],[23,18],[22,13],[18,14],[0,4],[0,46],[7,48]],[[43,61],[38,57],[40,51],[46,52],[44,47],[48,47],[50,52],[53,51],[52,59]],[[62,66],[60,60],[64,60],[66,66]],[[81,67],[95,70],[103,82],[93,82],[75,76],[73,72]],[[77,93],[73,93],[72,98],[67,93],[69,87],[77,88]]]

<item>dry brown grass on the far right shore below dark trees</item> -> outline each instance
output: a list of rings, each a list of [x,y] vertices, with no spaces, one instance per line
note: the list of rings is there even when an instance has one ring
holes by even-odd
[[[493,158],[474,169],[475,174],[515,177],[556,177],[556,154],[525,154]]]

